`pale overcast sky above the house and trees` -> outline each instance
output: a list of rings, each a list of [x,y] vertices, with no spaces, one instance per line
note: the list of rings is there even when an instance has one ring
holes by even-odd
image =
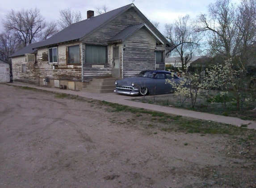
[[[2,19],[11,10],[20,11],[22,8],[37,7],[46,21],[57,21],[59,10],[71,7],[73,11],[80,11],[83,19],[87,17],[88,10],[95,10],[96,6],[103,4],[111,11],[127,4],[132,0],[3,0],[0,6],[0,32],[3,32]],[[215,0],[134,0],[135,6],[152,21],[160,23],[160,32],[164,32],[164,25],[171,24],[179,16],[189,14],[194,18],[200,13],[207,13],[207,7]],[[231,0],[239,3],[239,0]]]

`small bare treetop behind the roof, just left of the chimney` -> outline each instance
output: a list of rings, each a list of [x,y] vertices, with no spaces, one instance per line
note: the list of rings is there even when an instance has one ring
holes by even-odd
[[[61,9],[59,11],[59,15],[60,17],[59,17],[58,23],[61,29],[64,29],[67,26],[74,24],[76,22],[79,22],[83,19],[81,12],[80,11],[74,12],[71,10],[71,7]]]

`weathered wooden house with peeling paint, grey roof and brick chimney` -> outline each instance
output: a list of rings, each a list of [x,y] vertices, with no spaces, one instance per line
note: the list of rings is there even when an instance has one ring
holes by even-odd
[[[124,7],[68,26],[12,57],[13,80],[81,90],[92,78],[125,78],[165,68],[170,43],[135,7]]]

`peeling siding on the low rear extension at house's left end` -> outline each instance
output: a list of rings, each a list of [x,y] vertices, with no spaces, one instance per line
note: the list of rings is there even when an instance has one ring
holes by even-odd
[[[21,73],[21,66],[26,65],[26,72]],[[26,63],[25,56],[12,57],[13,81],[39,84],[38,63]]]

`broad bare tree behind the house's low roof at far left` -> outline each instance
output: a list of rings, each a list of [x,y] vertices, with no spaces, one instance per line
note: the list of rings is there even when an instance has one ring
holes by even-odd
[[[6,15],[6,20],[3,20],[3,25],[6,31],[14,33],[23,46],[39,41],[42,33],[50,37],[47,34],[48,23],[38,8],[22,9],[17,12],[11,10]]]

